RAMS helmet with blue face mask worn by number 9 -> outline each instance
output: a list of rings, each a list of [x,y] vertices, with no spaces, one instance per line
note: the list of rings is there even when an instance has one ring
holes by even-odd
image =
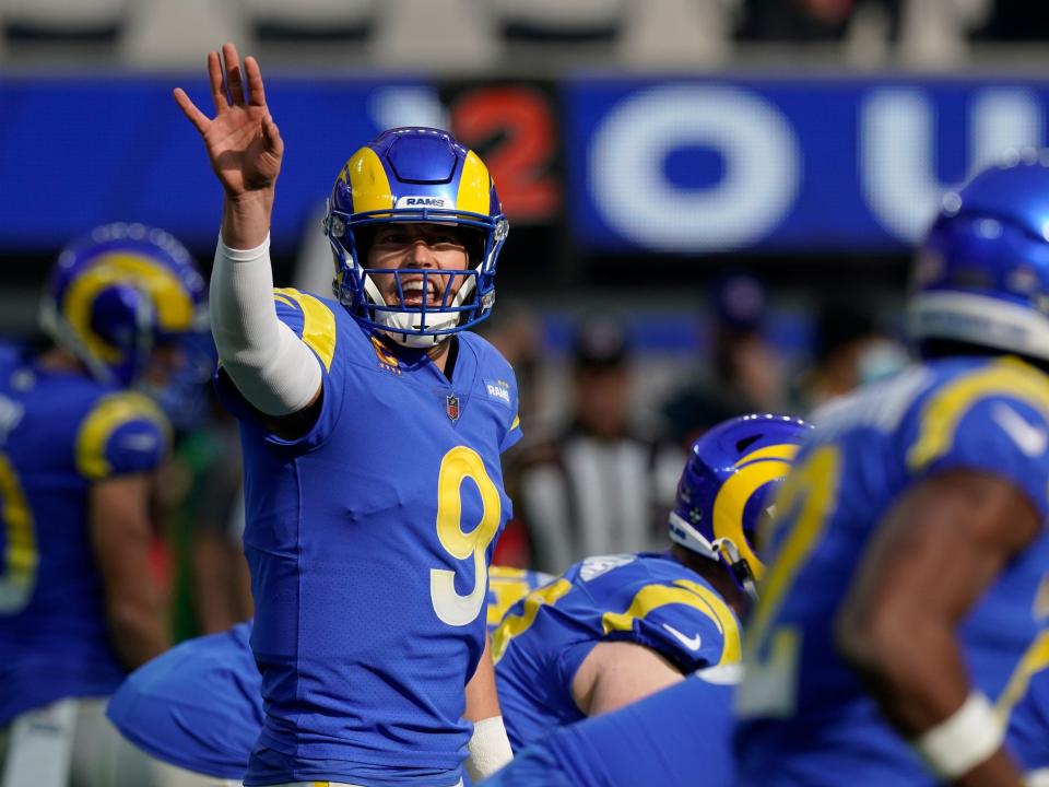
[[[401,272],[365,267],[361,228],[385,222],[451,223],[476,231],[470,267],[441,270],[440,304],[387,304],[373,274]],[[410,346],[432,346],[488,316],[495,303],[495,262],[509,224],[487,167],[446,131],[397,128],[358,150],[331,190],[325,232],[335,261],[332,290],[350,313]],[[426,271],[422,272],[424,287]],[[458,292],[456,286],[459,285]],[[403,302],[403,297],[401,298]]]

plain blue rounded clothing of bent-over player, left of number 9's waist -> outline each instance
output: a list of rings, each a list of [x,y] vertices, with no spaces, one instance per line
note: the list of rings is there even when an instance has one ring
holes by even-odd
[[[251,623],[189,639],[132,672],[106,716],[157,760],[239,782],[262,729]]]

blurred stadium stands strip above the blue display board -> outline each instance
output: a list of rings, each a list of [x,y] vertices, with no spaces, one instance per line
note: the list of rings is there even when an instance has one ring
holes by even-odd
[[[271,63],[542,73],[568,61],[644,68],[768,57],[754,43],[840,45],[861,66],[948,67],[974,46],[1045,40],[1049,12],[1023,0],[8,0],[0,25],[0,60],[12,63],[58,55],[189,66],[199,59],[193,33],[207,28]],[[463,45],[441,47],[449,37]]]

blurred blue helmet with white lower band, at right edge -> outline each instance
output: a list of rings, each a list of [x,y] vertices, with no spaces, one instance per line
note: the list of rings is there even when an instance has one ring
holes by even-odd
[[[947,193],[917,260],[908,331],[1049,360],[1049,152]]]

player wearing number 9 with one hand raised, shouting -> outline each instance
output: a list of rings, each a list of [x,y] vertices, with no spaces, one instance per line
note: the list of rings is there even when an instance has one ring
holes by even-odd
[[[224,191],[212,273],[220,391],[240,420],[251,647],[266,719],[245,784],[451,787],[510,756],[487,655],[487,565],[520,437],[506,361],[467,329],[507,233],[481,160],[393,129],[339,174],[335,301],[272,291],[283,156],[258,63],[182,91]]]

